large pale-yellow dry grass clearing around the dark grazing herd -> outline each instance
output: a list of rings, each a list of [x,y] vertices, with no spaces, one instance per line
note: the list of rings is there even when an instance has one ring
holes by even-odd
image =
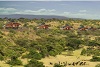
[[[56,57],[46,57],[41,59],[40,61],[44,63],[44,65],[46,67],[53,67],[53,65],[55,63],[59,63],[60,62],[68,62],[68,63],[72,63],[72,62],[77,62],[77,61],[83,61],[86,62],[86,65],[80,66],[80,65],[67,65],[66,67],[95,67],[96,64],[100,63],[100,62],[90,62],[89,60],[92,58],[91,56],[81,56],[80,55],[81,49],[80,50],[76,50],[74,51],[73,56],[66,56],[66,55],[57,55]],[[63,52],[63,54],[66,54],[66,52]],[[50,62],[53,63],[53,65],[50,64]]]

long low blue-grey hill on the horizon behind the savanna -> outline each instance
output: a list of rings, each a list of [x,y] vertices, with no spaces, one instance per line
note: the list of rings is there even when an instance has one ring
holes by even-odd
[[[23,15],[23,14],[12,14],[12,15],[0,15],[0,18],[28,18],[28,19],[33,19],[33,18],[44,18],[44,19],[51,19],[51,18],[57,18],[57,19],[69,19],[68,17],[64,16],[56,16],[56,15]]]

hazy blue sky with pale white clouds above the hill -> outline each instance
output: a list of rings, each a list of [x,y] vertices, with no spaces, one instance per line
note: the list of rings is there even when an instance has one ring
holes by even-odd
[[[100,19],[100,1],[0,1],[0,15],[61,15]]]

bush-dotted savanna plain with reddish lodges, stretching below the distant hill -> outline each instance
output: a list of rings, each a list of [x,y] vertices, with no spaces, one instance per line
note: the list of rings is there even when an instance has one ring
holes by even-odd
[[[100,20],[0,18],[0,67],[100,67]]]

